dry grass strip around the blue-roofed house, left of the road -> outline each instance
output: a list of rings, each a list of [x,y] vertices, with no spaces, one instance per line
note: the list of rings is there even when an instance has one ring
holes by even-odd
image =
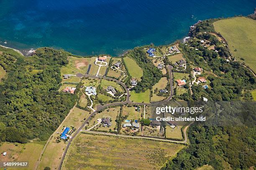
[[[64,152],[64,148],[67,146],[67,142],[64,143],[64,140],[61,140],[60,143],[56,142],[58,136],[63,131],[63,127],[74,126],[75,128],[79,128],[84,121],[84,118],[89,117],[89,112],[74,107],[74,110],[67,115],[66,120],[64,120],[61,125],[59,125],[56,130],[59,134],[54,133],[51,135],[51,140],[49,141],[46,149],[44,150],[43,156],[38,166],[38,170],[43,170],[44,167],[49,166],[52,170],[58,168],[60,163],[61,155]]]

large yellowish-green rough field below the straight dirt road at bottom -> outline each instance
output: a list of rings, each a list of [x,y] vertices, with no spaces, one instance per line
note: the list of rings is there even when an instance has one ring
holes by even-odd
[[[157,170],[184,145],[152,140],[79,134],[62,170]]]

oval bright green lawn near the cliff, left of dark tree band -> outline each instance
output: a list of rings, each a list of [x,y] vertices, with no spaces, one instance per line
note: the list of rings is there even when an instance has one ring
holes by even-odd
[[[143,76],[143,70],[141,69],[141,67],[139,67],[137,63],[130,57],[124,57],[123,60],[128,69],[127,71],[130,73],[131,77],[140,80]]]

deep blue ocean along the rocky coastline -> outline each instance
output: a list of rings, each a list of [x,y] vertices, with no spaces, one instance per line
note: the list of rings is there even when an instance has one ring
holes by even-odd
[[[198,20],[248,15],[254,7],[256,0],[0,0],[0,45],[117,56],[182,39]]]

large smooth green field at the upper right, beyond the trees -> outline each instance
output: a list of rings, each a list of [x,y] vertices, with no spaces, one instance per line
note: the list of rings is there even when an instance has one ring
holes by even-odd
[[[213,23],[216,32],[228,41],[231,52],[236,60],[245,62],[256,72],[256,20],[237,17],[219,20]],[[237,50],[237,51],[235,51]],[[243,57],[244,60],[240,58]]]

